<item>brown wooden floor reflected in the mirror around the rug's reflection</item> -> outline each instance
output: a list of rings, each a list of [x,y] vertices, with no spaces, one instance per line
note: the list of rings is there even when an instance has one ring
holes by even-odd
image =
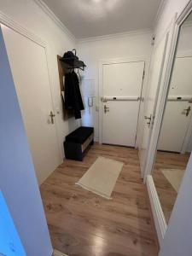
[[[169,152],[157,152],[154,164],[154,185],[159,195],[160,204],[164,212],[166,223],[172,214],[177,191],[173,189],[172,184],[166,179],[160,169],[180,169],[185,170],[189,160],[189,154],[176,154]]]

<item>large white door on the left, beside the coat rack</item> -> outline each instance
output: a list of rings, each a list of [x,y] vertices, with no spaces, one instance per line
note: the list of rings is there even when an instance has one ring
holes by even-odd
[[[52,124],[49,117],[53,105],[45,49],[7,26],[2,30],[32,160],[42,183],[61,162],[55,120]]]

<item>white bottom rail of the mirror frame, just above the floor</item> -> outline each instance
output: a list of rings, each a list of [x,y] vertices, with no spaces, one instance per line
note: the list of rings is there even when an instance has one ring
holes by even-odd
[[[154,179],[151,175],[148,175],[146,183],[147,183],[148,197],[150,200],[151,210],[154,217],[154,226],[157,232],[159,244],[161,246],[163,238],[166,234],[166,228],[167,228],[166,218],[160,206],[160,199],[154,186]]]

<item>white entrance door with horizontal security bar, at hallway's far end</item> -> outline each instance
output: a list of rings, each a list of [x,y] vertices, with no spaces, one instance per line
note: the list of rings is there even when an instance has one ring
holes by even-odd
[[[102,143],[135,147],[144,64],[103,65]]]

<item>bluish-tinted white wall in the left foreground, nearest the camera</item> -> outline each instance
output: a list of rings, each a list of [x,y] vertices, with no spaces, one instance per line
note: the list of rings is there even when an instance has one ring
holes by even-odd
[[[1,31],[0,55],[0,189],[26,255],[51,256],[44,208]]]

